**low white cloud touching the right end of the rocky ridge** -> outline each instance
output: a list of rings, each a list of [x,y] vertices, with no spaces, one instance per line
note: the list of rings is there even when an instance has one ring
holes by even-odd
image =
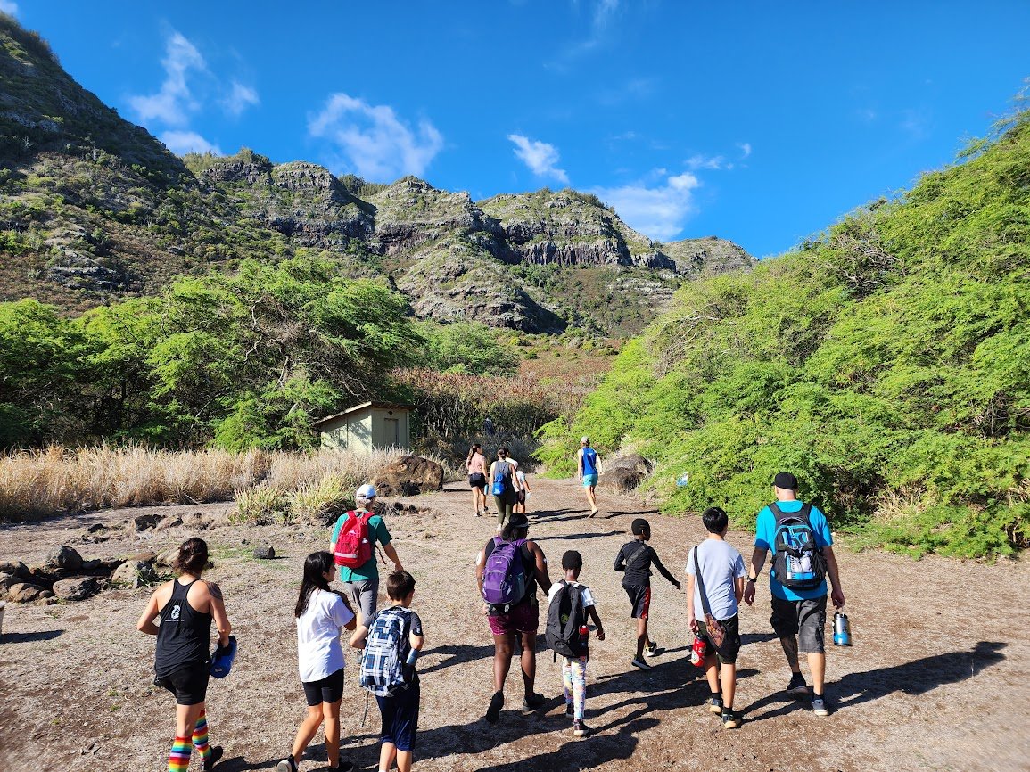
[[[666,177],[663,183],[621,187],[596,187],[595,194],[631,227],[658,241],[672,241],[683,232],[687,219],[696,212],[694,188],[700,181],[689,172]]]

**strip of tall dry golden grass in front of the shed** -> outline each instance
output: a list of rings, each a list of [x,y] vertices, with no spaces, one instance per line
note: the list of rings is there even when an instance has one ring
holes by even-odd
[[[402,454],[345,451],[229,453],[50,447],[0,456],[0,519],[103,506],[231,501],[258,487],[318,508],[318,493],[367,482]]]

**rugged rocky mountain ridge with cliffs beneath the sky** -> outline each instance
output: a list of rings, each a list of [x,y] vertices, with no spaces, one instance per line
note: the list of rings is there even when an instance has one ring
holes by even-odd
[[[717,239],[653,243],[575,190],[477,203],[415,177],[372,185],[247,149],[178,159],[3,14],[0,168],[0,301],[70,311],[311,250],[383,276],[421,317],[627,335],[685,278],[753,264]]]

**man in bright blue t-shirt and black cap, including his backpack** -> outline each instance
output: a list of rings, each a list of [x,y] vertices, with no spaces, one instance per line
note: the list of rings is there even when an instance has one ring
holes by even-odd
[[[744,600],[749,604],[754,602],[755,584],[771,552],[772,616],[769,622],[790,665],[787,693],[794,697],[809,694],[798,663],[798,652],[803,652],[812,673],[812,711],[816,715],[829,715],[830,705],[823,692],[827,576],[833,588],[830,594],[833,605],[840,608],[845,600],[833,555],[833,537],[826,516],[819,507],[797,498],[797,478],[781,471],[772,481],[772,490],[777,500],[758,513],[755,551],[751,556]]]

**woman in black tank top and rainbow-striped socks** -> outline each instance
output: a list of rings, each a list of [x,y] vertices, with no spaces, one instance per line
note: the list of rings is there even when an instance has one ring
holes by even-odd
[[[201,578],[207,566],[207,542],[191,538],[172,562],[178,576],[150,595],[136,629],[158,636],[153,660],[154,686],[175,695],[175,741],[168,753],[169,772],[186,772],[194,749],[213,769],[221,747],[208,743],[207,681],[211,672],[211,622],[218,631],[219,651],[230,645],[232,625],[221,590]],[[161,625],[154,621],[160,618]]]

